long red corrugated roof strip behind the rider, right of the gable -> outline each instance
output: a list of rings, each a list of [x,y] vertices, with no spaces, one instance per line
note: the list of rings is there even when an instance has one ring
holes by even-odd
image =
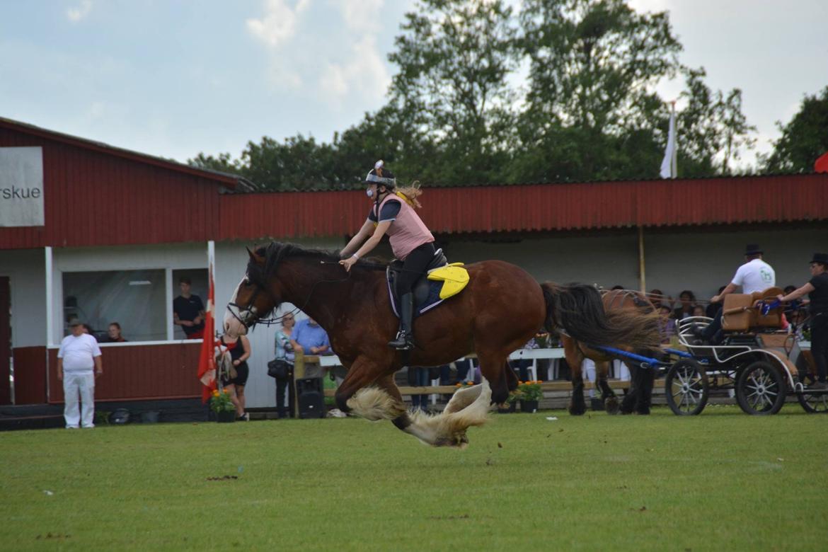
[[[421,197],[436,233],[782,223],[828,219],[828,174],[434,188]],[[221,239],[344,236],[370,209],[363,191],[233,194]]]

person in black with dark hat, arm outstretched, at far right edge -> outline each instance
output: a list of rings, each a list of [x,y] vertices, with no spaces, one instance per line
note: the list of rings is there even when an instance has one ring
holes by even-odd
[[[783,303],[808,294],[811,300],[811,356],[816,364],[816,383],[809,389],[828,389],[828,253],[814,253],[811,280],[787,295],[777,295]]]

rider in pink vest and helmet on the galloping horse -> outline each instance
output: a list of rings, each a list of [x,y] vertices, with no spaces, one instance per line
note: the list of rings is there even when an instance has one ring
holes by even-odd
[[[377,161],[373,170],[365,177],[365,184],[368,185],[368,197],[373,199],[373,207],[362,228],[359,228],[359,232],[342,250],[343,258],[339,264],[344,266],[346,271],[350,271],[351,266],[354,266],[359,258],[371,252],[383,235],[388,234],[394,256],[403,262],[402,271],[397,276],[395,284],[397,297],[400,298],[400,330],[397,332],[397,338],[388,342],[388,346],[400,350],[411,349],[414,347],[412,288],[434,257],[434,236],[417,216],[414,207],[394,193],[397,180],[390,170],[383,168],[383,161]],[[408,199],[419,207],[416,196],[420,191],[415,188],[407,189],[405,192]]]

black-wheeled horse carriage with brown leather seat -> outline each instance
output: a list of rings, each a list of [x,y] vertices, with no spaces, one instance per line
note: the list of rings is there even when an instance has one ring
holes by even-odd
[[[710,391],[734,391],[736,402],[752,415],[776,414],[788,396],[795,395],[806,412],[828,411],[828,391],[809,391],[808,378],[797,365],[806,363],[796,336],[782,329],[782,305],[777,287],[724,297],[723,338],[719,344],[696,337],[712,319],[703,316],[681,320],[678,340],[686,348],[671,351],[680,358],[667,368],[667,405],[677,415],[704,410]]]

